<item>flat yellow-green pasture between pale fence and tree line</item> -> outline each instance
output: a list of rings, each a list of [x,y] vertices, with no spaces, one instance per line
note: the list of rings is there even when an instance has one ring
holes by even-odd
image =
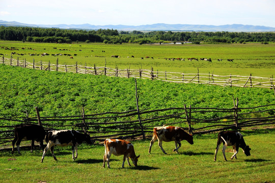
[[[23,53],[25,55],[14,54],[13,57],[26,59],[28,62],[51,62],[59,64],[85,65],[97,67],[105,66],[108,68],[119,69],[151,69],[154,71],[170,71],[180,73],[214,73],[217,75],[250,75],[270,77],[275,74],[275,44],[100,44],[100,43],[33,43],[0,41],[0,53],[10,57],[11,52]],[[18,50],[5,50],[5,47],[16,47]],[[25,49],[21,49],[25,48]],[[32,48],[28,49],[28,48]],[[57,48],[57,49],[53,49]],[[61,50],[60,50],[61,49]],[[63,50],[65,49],[65,50]],[[81,51],[80,51],[81,50]],[[68,56],[30,56],[30,54],[77,54],[70,59]],[[6,55],[7,54],[7,55]],[[119,55],[120,58],[111,58],[112,55]],[[134,56],[132,58],[131,56]],[[146,58],[149,56],[150,58]],[[141,59],[144,57],[144,59]],[[153,57],[153,59],[151,58]],[[207,61],[189,61],[187,58],[211,58],[212,63]],[[168,60],[166,58],[184,58],[181,60]],[[218,62],[217,59],[223,59]],[[234,59],[233,63],[227,59]]]

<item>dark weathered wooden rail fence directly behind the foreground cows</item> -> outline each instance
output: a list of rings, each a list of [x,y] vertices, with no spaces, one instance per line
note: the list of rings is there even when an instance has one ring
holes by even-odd
[[[141,111],[138,109],[99,114],[85,114],[82,108],[77,116],[40,116],[36,108],[36,117],[0,118],[0,121],[9,121],[9,124],[13,124],[0,126],[0,145],[11,145],[14,125],[21,123],[38,123],[46,130],[75,129],[90,133],[91,138],[97,141],[103,141],[105,138],[151,137],[153,127],[162,125],[180,126],[194,135],[261,125],[270,125],[274,128],[274,106],[275,104],[270,104],[241,108],[238,106],[238,100],[234,100],[233,108],[184,105],[179,108]],[[202,116],[199,118],[200,115],[196,114]],[[212,118],[207,118],[208,114],[211,114]]]

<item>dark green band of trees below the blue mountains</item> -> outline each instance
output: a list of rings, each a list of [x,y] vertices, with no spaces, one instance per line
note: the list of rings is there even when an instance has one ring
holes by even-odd
[[[163,43],[165,41],[206,43],[245,43],[275,41],[275,33],[246,33],[246,32],[118,32],[114,29],[98,29],[86,31],[60,28],[35,28],[35,27],[0,27],[0,39],[9,41],[29,41],[46,43],[71,43],[71,42],[103,42],[109,44],[122,43]]]

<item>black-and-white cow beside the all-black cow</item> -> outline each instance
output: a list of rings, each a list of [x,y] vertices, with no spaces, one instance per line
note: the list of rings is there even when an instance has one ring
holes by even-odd
[[[81,134],[75,130],[59,130],[59,131],[48,131],[46,133],[45,141],[47,146],[44,149],[41,163],[43,163],[44,157],[50,148],[51,155],[54,160],[57,161],[56,156],[53,154],[54,145],[59,146],[72,146],[72,158],[75,160],[77,158],[77,145],[86,141],[88,144],[92,144],[91,137],[88,134]],[[75,156],[74,156],[75,151]]]

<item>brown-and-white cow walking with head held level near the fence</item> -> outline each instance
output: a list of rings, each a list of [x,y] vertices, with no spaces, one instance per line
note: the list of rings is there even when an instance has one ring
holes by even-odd
[[[178,149],[181,146],[182,140],[186,140],[190,144],[194,144],[193,136],[191,134],[186,133],[180,127],[171,127],[171,126],[155,127],[153,131],[153,139],[150,142],[149,154],[151,153],[151,147],[156,141],[156,139],[158,140],[158,146],[166,155],[167,155],[166,151],[164,151],[164,149],[162,148],[162,141],[164,142],[175,141],[176,148],[173,151],[176,151],[177,153],[178,153]]]

